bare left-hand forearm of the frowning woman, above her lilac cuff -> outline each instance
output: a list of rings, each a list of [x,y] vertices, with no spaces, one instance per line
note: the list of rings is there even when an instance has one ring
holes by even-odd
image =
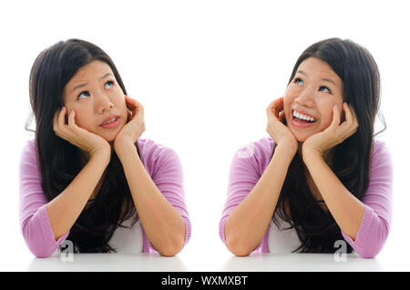
[[[106,155],[92,156],[67,188],[46,205],[57,240],[74,225],[109,163]]]

